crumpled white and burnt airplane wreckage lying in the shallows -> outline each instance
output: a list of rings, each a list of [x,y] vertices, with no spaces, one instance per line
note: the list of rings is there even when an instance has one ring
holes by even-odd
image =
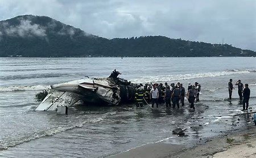
[[[134,101],[135,85],[118,78],[114,70],[108,78],[80,79],[53,84],[48,95],[36,108],[40,111],[66,109],[83,101],[84,104],[118,105]]]

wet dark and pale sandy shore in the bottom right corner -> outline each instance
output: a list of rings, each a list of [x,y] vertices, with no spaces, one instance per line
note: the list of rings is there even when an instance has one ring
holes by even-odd
[[[256,157],[256,126],[218,136],[187,148],[168,143],[146,144],[110,157]]]

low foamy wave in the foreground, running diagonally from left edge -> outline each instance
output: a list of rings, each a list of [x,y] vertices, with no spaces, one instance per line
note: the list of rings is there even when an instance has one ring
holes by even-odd
[[[97,117],[97,118],[88,118],[85,121],[81,121],[81,122],[77,122],[77,123],[70,123],[69,126],[52,127],[50,129],[36,131],[33,134],[26,135],[26,136],[16,138],[16,139],[7,138],[6,140],[0,141],[0,150],[6,150],[9,147],[15,147],[18,144],[30,142],[31,140],[39,139],[44,136],[51,136],[51,135],[54,135],[57,133],[67,131],[67,130],[79,128],[79,127],[82,127],[85,123],[97,123],[97,122],[104,120],[105,118],[107,118],[109,116],[114,115],[114,114],[116,114],[116,112],[108,112],[108,113],[102,114],[102,116]],[[83,120],[83,119],[81,118],[80,120]]]

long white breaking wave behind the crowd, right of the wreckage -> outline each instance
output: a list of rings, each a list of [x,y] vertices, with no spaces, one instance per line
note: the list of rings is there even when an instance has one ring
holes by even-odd
[[[133,83],[147,83],[147,82],[170,82],[174,80],[185,80],[194,78],[209,78],[216,76],[225,76],[232,74],[247,74],[250,71],[221,71],[221,72],[202,72],[197,74],[177,74],[177,75],[158,75],[158,76],[142,76],[141,78],[131,79]]]

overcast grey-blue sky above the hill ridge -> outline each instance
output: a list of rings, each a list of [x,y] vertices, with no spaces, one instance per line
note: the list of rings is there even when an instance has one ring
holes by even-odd
[[[112,39],[162,35],[256,51],[256,0],[0,0],[0,20],[45,15]]]

